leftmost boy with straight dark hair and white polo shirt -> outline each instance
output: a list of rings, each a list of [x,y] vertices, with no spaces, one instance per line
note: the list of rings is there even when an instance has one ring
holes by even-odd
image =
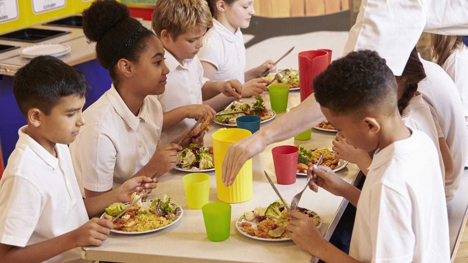
[[[81,110],[88,84],[82,73],[58,58],[33,58],[15,74],[13,91],[28,121],[0,180],[2,262],[89,262],[81,246],[100,246],[113,228],[101,214],[114,202],[157,180],[132,178],[122,187],[83,200],[67,144],[85,124]]]

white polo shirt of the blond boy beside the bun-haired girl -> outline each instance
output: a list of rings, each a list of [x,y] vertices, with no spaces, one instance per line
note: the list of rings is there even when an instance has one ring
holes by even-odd
[[[202,88],[208,80],[203,76],[203,67],[197,56],[193,59],[183,59],[182,65],[166,50],[164,63],[169,68],[166,75],[168,83],[163,94],[158,95],[162,112],[168,112],[181,106],[203,104]],[[159,145],[165,145],[189,130],[196,121],[183,119],[178,124],[161,133]]]

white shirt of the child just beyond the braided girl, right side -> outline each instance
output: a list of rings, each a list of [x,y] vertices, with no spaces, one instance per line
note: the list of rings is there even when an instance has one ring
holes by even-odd
[[[468,131],[460,94],[455,83],[439,65],[421,57],[419,59],[423,63],[427,78],[419,82],[417,89],[423,94],[423,99],[429,105],[434,121],[440,126],[442,134],[439,134],[439,138],[445,138],[455,166],[452,177],[445,180],[448,204],[460,186],[460,179],[465,168]]]

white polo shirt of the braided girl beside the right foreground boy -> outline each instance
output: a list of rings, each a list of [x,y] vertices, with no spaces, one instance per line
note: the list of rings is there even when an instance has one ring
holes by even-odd
[[[423,100],[423,95],[419,91],[416,91],[406,108],[403,109],[402,120],[405,125],[419,131],[424,131],[431,138],[432,144],[437,149],[439,169],[443,176],[442,180],[445,182],[445,166],[442,160],[442,153],[440,153],[439,135],[429,105]]]

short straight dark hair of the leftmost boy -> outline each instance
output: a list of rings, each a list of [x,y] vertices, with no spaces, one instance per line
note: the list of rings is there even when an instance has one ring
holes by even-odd
[[[13,94],[25,117],[31,108],[38,108],[49,115],[62,97],[77,95],[82,98],[88,90],[83,73],[51,56],[31,59],[15,73],[13,79]]]

